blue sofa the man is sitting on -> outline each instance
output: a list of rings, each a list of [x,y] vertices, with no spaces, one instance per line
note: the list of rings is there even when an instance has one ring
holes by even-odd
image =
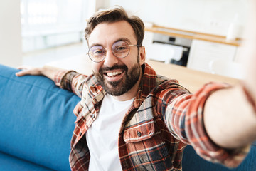
[[[0,65],[0,170],[70,170],[73,108],[78,98],[43,76],[18,78]],[[235,171],[256,170],[256,144]],[[183,170],[225,170],[196,155],[183,155]]]

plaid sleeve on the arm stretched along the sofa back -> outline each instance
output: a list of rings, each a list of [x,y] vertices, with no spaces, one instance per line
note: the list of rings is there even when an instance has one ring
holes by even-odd
[[[56,86],[70,90],[78,97],[82,97],[82,88],[87,76],[77,73],[75,71],[60,70],[54,76]]]

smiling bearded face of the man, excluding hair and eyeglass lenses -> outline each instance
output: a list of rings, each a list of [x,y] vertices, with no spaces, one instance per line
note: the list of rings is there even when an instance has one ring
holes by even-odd
[[[89,38],[90,48],[100,45],[107,50],[103,61],[92,62],[92,71],[104,90],[114,96],[129,92],[139,82],[141,65],[144,63],[144,51],[138,50],[137,46],[130,46],[129,54],[125,58],[114,56],[111,48],[117,41],[125,41],[129,45],[137,44],[132,26],[127,21],[98,24]]]

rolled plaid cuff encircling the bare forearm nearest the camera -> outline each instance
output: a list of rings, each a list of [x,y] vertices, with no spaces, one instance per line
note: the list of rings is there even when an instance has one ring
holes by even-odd
[[[245,159],[250,150],[250,145],[236,150],[219,147],[210,140],[203,126],[204,104],[211,93],[222,88],[230,88],[230,86],[225,83],[208,83],[194,94],[197,98],[192,99],[191,104],[193,105],[188,111],[191,115],[186,119],[191,124],[188,124],[187,133],[191,139],[191,145],[198,155],[210,162],[218,162],[226,167],[237,167]],[[197,115],[193,115],[194,113],[197,113]]]

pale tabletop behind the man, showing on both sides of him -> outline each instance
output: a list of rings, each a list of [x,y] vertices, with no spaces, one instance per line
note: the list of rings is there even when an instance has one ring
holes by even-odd
[[[156,73],[178,80],[179,83],[190,90],[191,93],[195,93],[198,88],[203,86],[205,83],[209,83],[210,81],[222,83],[225,82],[230,83],[231,85],[239,82],[239,80],[235,78],[195,71],[184,66],[177,66],[171,63],[166,64],[158,61],[146,61],[146,63],[149,63],[149,65],[154,68]],[[90,66],[91,61],[86,55],[74,56],[62,61],[47,63],[46,65],[53,66],[55,68],[75,70],[86,75],[90,75],[92,73]]]

